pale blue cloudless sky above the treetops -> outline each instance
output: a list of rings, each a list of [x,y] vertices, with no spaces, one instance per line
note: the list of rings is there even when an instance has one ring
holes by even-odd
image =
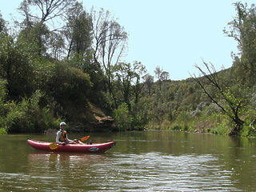
[[[1,2],[2,17],[20,17],[22,0]],[[122,62],[142,62],[154,76],[159,66],[171,80],[198,76],[194,65],[211,62],[216,70],[232,66],[231,52],[238,53],[237,42],[223,34],[236,14],[232,0],[80,0],[87,12],[109,10],[129,34],[128,50]],[[242,1],[248,6],[254,1]]]

